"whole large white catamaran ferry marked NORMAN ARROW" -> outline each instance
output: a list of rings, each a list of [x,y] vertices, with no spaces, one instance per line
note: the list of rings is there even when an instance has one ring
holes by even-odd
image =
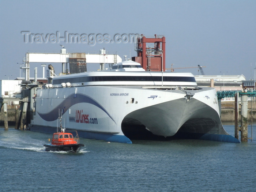
[[[109,71],[54,76],[37,90],[30,130],[53,133],[59,110],[65,129],[83,138],[239,142],[222,126],[214,88],[198,87],[191,73],[149,72],[131,60]]]

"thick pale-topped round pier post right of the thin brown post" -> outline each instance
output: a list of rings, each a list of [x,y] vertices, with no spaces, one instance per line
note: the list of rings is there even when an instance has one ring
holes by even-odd
[[[241,94],[241,141],[248,141],[248,95]]]

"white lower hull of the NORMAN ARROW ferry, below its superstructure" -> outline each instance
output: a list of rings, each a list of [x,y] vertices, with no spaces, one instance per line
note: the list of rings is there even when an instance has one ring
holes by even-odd
[[[58,111],[61,110],[65,128],[77,130],[84,138],[131,143],[125,135],[140,138],[134,131],[135,125],[144,125],[157,136],[169,137],[178,132],[178,135],[194,135],[199,139],[238,141],[222,127],[215,89],[188,90],[186,93],[181,89],[149,88],[79,86],[40,89],[30,129],[56,131]]]

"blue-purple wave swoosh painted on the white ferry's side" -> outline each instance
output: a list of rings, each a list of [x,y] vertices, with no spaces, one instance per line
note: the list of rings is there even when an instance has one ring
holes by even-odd
[[[45,121],[54,121],[59,117],[59,110],[62,111],[62,114],[67,112],[71,106],[77,104],[77,103],[90,103],[92,105],[97,106],[99,109],[103,110],[113,121],[114,119],[110,116],[110,114],[104,109],[97,101],[95,101],[93,98],[83,95],[83,94],[72,94],[69,95],[67,98],[64,99],[63,102],[61,102],[56,108],[51,110],[49,113],[39,113],[39,116],[44,119]],[[114,121],[116,123],[116,121]]]

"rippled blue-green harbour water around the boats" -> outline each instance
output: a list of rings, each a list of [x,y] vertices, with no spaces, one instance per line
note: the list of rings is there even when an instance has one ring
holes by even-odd
[[[234,136],[234,125],[224,127]],[[51,136],[0,127],[0,191],[256,190],[256,136],[243,143],[80,138],[78,154],[46,152]]]

